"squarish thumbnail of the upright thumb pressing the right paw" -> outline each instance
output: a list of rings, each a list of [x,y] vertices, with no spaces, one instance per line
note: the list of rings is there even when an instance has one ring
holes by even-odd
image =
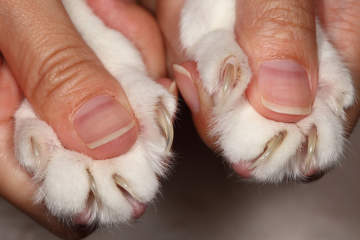
[[[308,115],[312,108],[311,83],[306,70],[293,60],[264,62],[258,74],[261,103],[282,114]]]

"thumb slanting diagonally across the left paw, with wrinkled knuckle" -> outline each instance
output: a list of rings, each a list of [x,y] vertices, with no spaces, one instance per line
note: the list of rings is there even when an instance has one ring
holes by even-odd
[[[38,116],[66,148],[96,159],[127,152],[138,124],[121,86],[60,1],[1,1],[0,49]]]

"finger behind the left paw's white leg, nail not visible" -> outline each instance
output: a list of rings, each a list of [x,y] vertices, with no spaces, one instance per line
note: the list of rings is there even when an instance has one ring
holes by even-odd
[[[140,51],[153,79],[166,76],[165,48],[160,29],[149,12],[134,0],[88,0],[94,13],[124,34]]]

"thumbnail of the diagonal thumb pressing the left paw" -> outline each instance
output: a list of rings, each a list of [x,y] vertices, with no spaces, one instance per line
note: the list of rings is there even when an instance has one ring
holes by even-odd
[[[74,127],[86,146],[95,149],[130,132],[135,121],[114,98],[97,96],[76,111]]]

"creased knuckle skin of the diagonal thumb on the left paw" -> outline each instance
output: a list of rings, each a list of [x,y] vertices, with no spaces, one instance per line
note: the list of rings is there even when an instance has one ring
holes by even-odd
[[[35,77],[27,86],[27,95],[38,107],[49,102],[45,99],[66,97],[91,75],[89,69],[94,65],[98,65],[97,61],[81,45],[52,47],[34,68]]]

